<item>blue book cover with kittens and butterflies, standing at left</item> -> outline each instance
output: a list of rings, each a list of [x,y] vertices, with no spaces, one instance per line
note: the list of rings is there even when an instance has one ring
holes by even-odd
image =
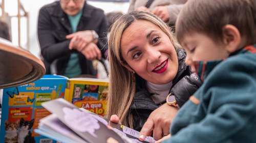
[[[45,75],[41,79],[3,90],[1,142],[53,142],[34,132],[39,120],[51,113],[41,103],[64,98],[67,78]],[[55,142],[55,141],[54,141]]]

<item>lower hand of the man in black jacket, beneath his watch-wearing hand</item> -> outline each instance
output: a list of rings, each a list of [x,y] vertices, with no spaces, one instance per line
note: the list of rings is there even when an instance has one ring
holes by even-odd
[[[81,52],[88,60],[101,59],[101,53],[98,46],[91,42],[86,47],[78,48],[77,51]]]

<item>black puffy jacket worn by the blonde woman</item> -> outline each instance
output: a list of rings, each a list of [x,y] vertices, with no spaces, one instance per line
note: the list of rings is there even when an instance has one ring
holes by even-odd
[[[189,66],[185,64],[185,52],[179,49],[177,50],[177,55],[179,59],[178,73],[173,80],[173,85],[170,87],[169,92],[174,94],[177,103],[181,107],[202,83],[195,77],[195,74],[191,73]],[[133,128],[140,131],[148,116],[152,111],[157,109],[159,105],[155,104],[152,100],[151,93],[148,90],[142,88],[137,88],[137,90],[130,110],[133,114]]]

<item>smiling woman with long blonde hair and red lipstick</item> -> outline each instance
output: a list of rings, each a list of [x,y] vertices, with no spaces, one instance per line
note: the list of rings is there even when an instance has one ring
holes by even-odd
[[[137,131],[143,127],[144,136],[167,135],[177,110],[201,85],[170,28],[151,13],[134,11],[113,23],[108,46],[106,117]]]

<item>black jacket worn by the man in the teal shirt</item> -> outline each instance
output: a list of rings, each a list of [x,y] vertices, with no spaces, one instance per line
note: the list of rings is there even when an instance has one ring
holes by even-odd
[[[97,43],[102,57],[107,47],[106,33],[108,26],[104,12],[98,8],[84,3],[82,16],[77,26],[77,31],[95,30],[99,35]],[[80,52],[69,50],[70,40],[66,35],[72,33],[68,16],[60,7],[59,1],[42,7],[38,15],[38,40],[41,55],[45,61],[56,61],[57,75],[63,75],[67,67],[70,55],[78,53],[82,74],[96,75],[92,61],[87,60]],[[103,48],[104,47],[104,48]]]

